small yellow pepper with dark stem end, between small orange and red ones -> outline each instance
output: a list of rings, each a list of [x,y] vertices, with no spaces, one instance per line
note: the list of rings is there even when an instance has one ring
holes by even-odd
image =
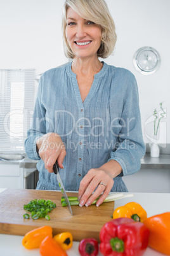
[[[73,237],[70,232],[63,232],[53,237],[56,242],[60,243],[63,250],[67,250],[72,247]]]

